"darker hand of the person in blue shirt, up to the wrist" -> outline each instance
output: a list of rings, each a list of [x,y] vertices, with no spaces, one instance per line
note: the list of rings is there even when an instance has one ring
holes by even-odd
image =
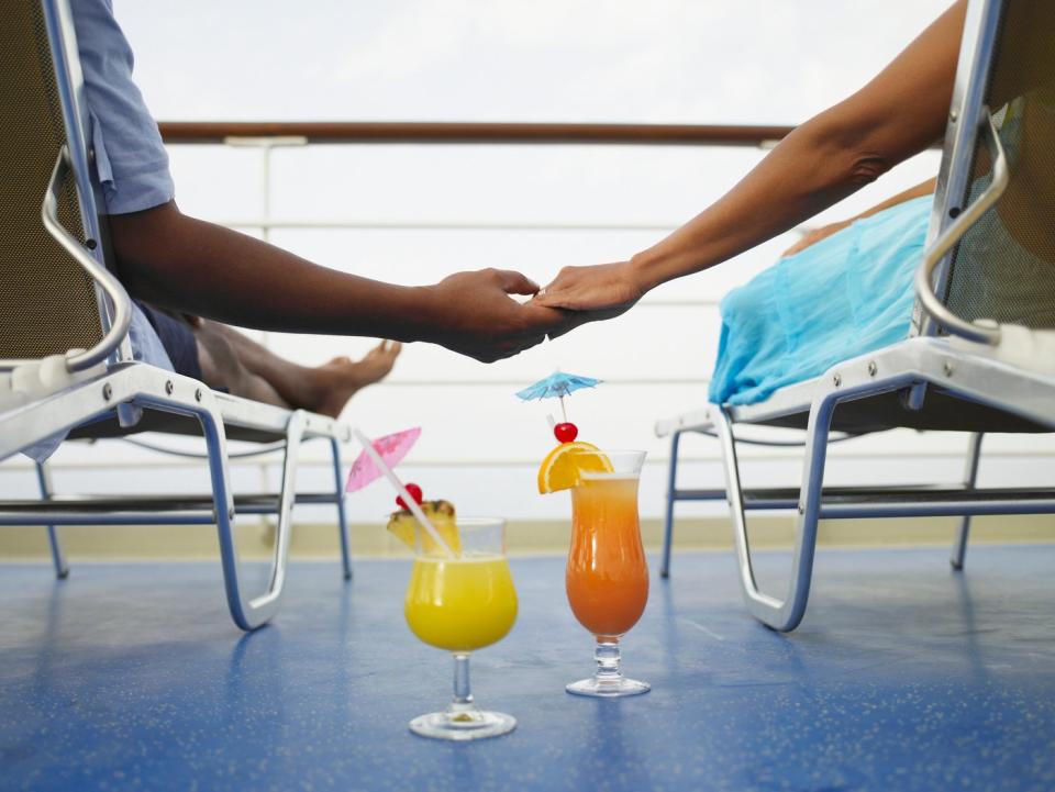
[[[511,357],[542,343],[547,334],[559,335],[568,328],[565,312],[535,301],[521,304],[510,297],[538,291],[538,285],[520,272],[457,272],[426,290],[430,324],[435,328],[426,341],[481,362]]]

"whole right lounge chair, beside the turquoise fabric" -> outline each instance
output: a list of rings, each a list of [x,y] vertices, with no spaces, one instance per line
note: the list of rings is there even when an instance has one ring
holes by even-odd
[[[657,434],[671,437],[664,577],[676,503],[728,500],[747,609],[770,627],[791,631],[806,612],[822,517],[963,516],[952,556],[958,570],[973,515],[1055,512],[1055,489],[975,486],[986,433],[1055,431],[1055,312],[1036,310],[1055,302],[1055,263],[1033,259],[1024,266],[1015,257],[1031,254],[1014,253],[1055,248],[1055,123],[1028,123],[1029,113],[1039,112],[1037,89],[1053,96],[1053,36],[1052,3],[969,3],[909,337],[780,388],[760,403],[711,404],[657,423]],[[990,108],[993,96],[1017,99]],[[1009,122],[1011,113],[1019,123]],[[1029,152],[1035,156],[1025,156]],[[744,425],[804,430],[800,488],[742,487],[734,427]],[[822,486],[830,433],[906,426],[971,433],[963,483]],[[678,447],[687,432],[718,436],[723,489],[678,489]],[[782,599],[760,591],[752,569],[746,514],[764,510],[797,512]]]

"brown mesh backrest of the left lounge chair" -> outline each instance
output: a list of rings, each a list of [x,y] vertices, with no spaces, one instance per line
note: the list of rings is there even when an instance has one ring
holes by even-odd
[[[109,326],[95,279],[41,216],[65,146],[58,221],[102,264],[85,127],[69,118],[81,88],[73,36],[65,2],[0,2],[0,368],[89,349]]]

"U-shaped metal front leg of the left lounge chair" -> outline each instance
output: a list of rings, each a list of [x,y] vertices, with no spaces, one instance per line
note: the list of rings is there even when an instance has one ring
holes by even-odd
[[[277,612],[286,582],[286,566],[289,557],[289,538],[293,501],[296,500],[297,464],[300,443],[303,438],[307,414],[296,411],[286,427],[286,457],[282,462],[282,488],[279,494],[278,526],[275,532],[275,551],[267,590],[260,596],[247,600],[238,580],[238,550],[234,536],[234,500],[231,493],[231,477],[227,470],[226,438],[219,413],[211,409],[198,412],[206,445],[209,449],[209,471],[212,479],[216,532],[220,540],[220,558],[223,565],[223,582],[227,606],[234,623],[251,631],[266,624]]]

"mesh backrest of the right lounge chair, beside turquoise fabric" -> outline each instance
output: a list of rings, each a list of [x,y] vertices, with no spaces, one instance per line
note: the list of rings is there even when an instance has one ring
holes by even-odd
[[[930,242],[986,192],[991,115],[1009,180],[937,265],[935,293],[966,322],[1055,328],[1055,2],[973,0]],[[917,304],[913,335],[940,328]]]

